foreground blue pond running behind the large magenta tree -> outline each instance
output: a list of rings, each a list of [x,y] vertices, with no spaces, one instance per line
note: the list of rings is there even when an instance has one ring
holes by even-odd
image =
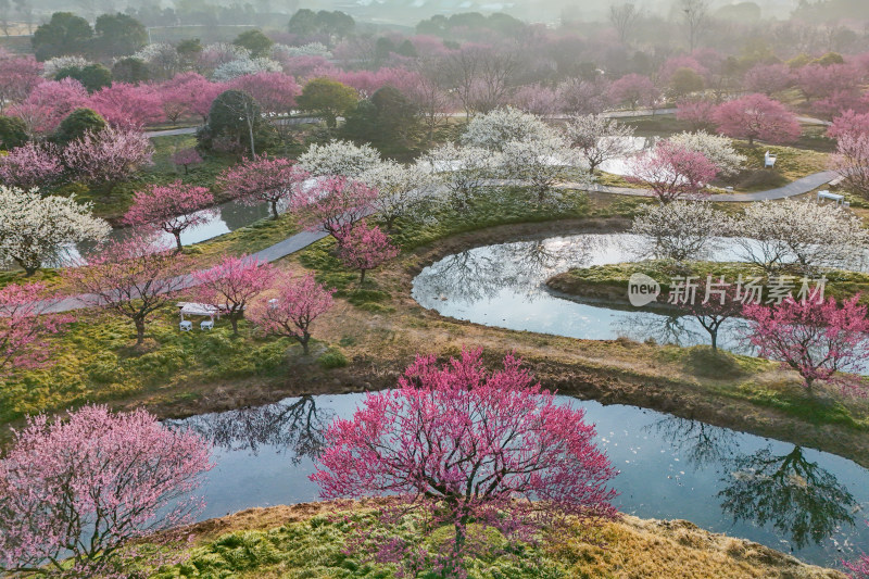
[[[318,499],[307,477],[324,430],[364,394],[302,397],[173,420],[215,443],[201,518]],[[869,547],[869,471],[845,458],[633,406],[558,397],[584,410],[620,474],[615,504],[835,566]]]

